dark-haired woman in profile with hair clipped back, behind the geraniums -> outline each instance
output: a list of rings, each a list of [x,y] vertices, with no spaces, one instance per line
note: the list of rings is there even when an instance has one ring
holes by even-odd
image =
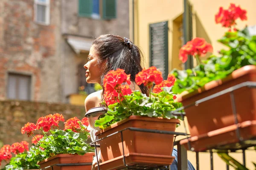
[[[88,55],[88,62],[84,65],[86,69],[86,82],[99,83],[103,87],[104,76],[108,71],[122,68],[126,74],[131,74],[130,88],[139,90],[148,95],[148,88],[143,84],[138,86],[135,83],[135,75],[142,71],[141,66],[142,56],[139,48],[134,45],[129,39],[115,35],[102,35],[93,41]],[[84,101],[86,112],[90,108],[99,107],[103,100],[104,88],[101,91],[89,94]],[[91,138],[94,141],[94,133],[96,130],[91,130]],[[175,151],[175,150],[174,150]],[[99,151],[98,151],[99,152]],[[175,156],[175,155],[173,155]],[[96,164],[96,159],[93,160],[93,167]],[[172,166],[177,169],[177,164]],[[190,169],[189,169],[190,170]]]

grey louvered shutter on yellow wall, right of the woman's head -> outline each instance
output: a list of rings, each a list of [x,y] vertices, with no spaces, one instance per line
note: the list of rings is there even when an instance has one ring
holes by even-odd
[[[150,66],[157,67],[168,76],[168,21],[149,25],[149,59]]]

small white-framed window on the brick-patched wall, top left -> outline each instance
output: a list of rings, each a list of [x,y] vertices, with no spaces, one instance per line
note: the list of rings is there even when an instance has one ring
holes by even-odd
[[[34,21],[43,24],[50,24],[50,0],[34,0]]]

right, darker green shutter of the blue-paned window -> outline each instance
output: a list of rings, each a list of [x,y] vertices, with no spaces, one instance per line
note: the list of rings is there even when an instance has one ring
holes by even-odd
[[[105,20],[116,18],[116,0],[102,0],[102,18]]]

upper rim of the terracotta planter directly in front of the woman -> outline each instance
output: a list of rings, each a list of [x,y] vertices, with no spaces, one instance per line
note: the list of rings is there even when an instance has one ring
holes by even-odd
[[[169,123],[180,123],[179,119],[164,119],[163,117],[148,117],[148,116],[137,116],[137,115],[131,115],[130,117],[123,119],[119,122],[116,122],[105,129],[99,130],[98,132],[95,133],[96,136],[111,130],[114,127],[117,127],[125,122],[131,121],[131,120],[142,120],[142,121],[147,121],[147,122],[169,122]]]

